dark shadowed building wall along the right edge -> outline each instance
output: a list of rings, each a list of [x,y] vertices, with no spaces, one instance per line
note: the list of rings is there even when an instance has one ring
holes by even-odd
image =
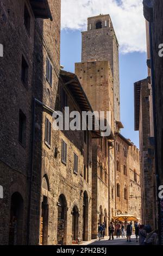
[[[159,243],[163,244],[163,207],[159,197],[159,187],[162,185],[162,1],[143,0],[143,14],[147,24],[147,65],[148,76],[151,78],[151,106],[153,107],[153,121],[149,124],[153,130],[154,150],[154,227],[159,229]],[[143,122],[143,120],[142,120]],[[148,188],[147,188],[148,189]],[[146,188],[145,188],[146,190]]]

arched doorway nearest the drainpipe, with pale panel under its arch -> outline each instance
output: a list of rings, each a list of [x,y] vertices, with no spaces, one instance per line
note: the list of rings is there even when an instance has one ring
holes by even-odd
[[[42,193],[43,199],[41,202],[41,219],[40,219],[40,245],[48,244],[48,198],[47,194],[49,191],[49,180],[48,176],[45,174],[42,179]]]

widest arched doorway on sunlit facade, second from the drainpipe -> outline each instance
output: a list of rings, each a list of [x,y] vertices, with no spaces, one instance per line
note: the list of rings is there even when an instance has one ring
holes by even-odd
[[[67,202],[64,194],[58,199],[58,245],[66,245],[66,229],[67,229]]]

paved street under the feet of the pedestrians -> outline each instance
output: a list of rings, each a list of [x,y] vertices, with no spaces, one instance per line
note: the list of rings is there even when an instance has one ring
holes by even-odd
[[[101,241],[95,239],[95,240],[91,240],[91,242],[83,242],[82,245],[86,246],[86,245],[100,245],[100,246],[107,246],[107,245],[139,245],[139,242],[136,242],[136,238],[135,235],[131,236],[131,242],[127,242],[127,238],[124,237],[120,237],[120,238],[116,238],[116,236],[114,236],[114,240],[108,240],[109,236],[106,236],[105,239],[102,239]]]

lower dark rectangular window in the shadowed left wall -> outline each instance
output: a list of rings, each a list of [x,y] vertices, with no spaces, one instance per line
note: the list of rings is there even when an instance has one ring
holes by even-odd
[[[18,141],[23,147],[26,147],[26,115],[21,110],[19,112]]]

